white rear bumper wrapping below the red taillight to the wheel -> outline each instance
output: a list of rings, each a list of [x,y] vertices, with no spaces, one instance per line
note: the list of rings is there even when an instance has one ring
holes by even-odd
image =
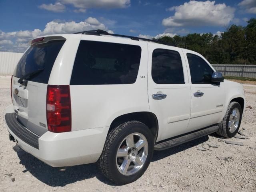
[[[6,114],[7,115],[7,114]],[[6,121],[9,121],[6,119]],[[12,119],[12,121],[14,121]],[[32,154],[53,167],[73,166],[94,163],[102,153],[109,127],[53,133],[46,132],[38,136],[38,148],[24,140],[24,134],[18,134],[10,122],[6,122],[8,132],[24,151]],[[30,136],[27,136],[30,138]]]

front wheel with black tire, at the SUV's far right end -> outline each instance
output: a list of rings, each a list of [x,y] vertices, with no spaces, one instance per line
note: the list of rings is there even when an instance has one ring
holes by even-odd
[[[230,118],[232,119],[234,117],[234,115],[231,115],[231,113],[232,112],[234,113],[235,109],[239,111],[239,117],[237,116],[236,118],[234,118],[235,120],[234,119],[233,120],[234,122],[236,122],[236,120],[239,120],[239,122],[237,123],[237,126],[233,127],[232,120],[230,120]],[[240,104],[238,102],[230,102],[222,122],[219,123],[219,129],[216,133],[226,138],[234,137],[239,130],[241,120],[242,120],[242,108]],[[236,123],[234,123],[234,125],[235,124]],[[231,125],[231,127],[229,125]]]

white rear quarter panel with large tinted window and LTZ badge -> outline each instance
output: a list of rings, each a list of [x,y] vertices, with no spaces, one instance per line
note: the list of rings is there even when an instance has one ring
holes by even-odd
[[[70,79],[72,130],[108,130],[118,116],[148,111],[147,64],[147,42],[82,35]]]

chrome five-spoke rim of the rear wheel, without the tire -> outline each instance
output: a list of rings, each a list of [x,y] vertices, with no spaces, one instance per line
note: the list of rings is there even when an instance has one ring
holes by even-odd
[[[148,156],[148,141],[141,133],[132,133],[121,142],[116,154],[116,166],[123,175],[138,172]]]

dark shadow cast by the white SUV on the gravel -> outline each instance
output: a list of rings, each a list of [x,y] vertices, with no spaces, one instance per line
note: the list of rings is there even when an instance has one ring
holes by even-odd
[[[174,155],[178,152],[199,145],[207,140],[208,136],[205,136],[197,140],[181,144],[180,146],[176,146],[174,148],[163,151],[154,151],[152,162],[160,160],[162,158],[166,158],[170,155]],[[94,177],[96,177],[101,182],[104,182],[105,184],[111,186],[115,185],[113,182],[110,182],[104,177],[104,175],[98,170],[96,163],[71,166],[67,167],[66,171],[60,171],[60,168],[53,168],[51,166],[48,166],[44,162],[38,160],[37,158],[35,158],[31,154],[28,154],[22,149],[18,150],[17,154],[20,158],[20,164],[24,165],[26,168],[23,172],[30,172],[38,180],[49,186],[66,186],[67,184]]]

